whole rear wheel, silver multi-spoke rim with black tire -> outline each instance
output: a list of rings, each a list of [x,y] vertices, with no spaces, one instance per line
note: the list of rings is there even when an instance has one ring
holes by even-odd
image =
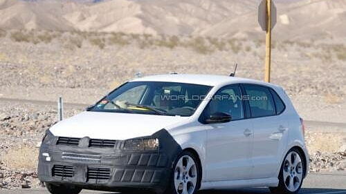
[[[280,169],[279,185],[271,187],[271,193],[295,194],[299,192],[306,171],[302,158],[302,153],[296,148],[287,153]]]

